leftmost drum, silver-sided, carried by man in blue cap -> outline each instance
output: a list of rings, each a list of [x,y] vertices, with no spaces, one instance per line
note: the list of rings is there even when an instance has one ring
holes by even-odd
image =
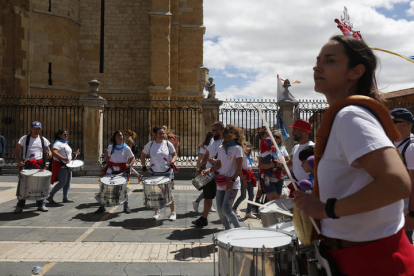
[[[49,196],[50,178],[52,173],[47,170],[22,170],[19,174],[16,195],[19,199],[42,200]]]

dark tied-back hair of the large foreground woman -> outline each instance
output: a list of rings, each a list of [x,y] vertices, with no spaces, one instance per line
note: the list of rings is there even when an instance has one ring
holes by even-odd
[[[377,68],[377,57],[365,42],[353,37],[337,35],[331,37],[345,48],[345,54],[349,59],[348,67],[354,68],[359,64],[365,66],[364,74],[359,78],[357,84],[357,95],[368,96],[375,99],[376,88],[373,85],[375,69]]]

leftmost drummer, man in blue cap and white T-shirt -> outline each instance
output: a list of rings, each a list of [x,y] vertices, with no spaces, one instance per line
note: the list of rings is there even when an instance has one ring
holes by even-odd
[[[45,169],[45,160],[52,158],[52,152],[50,151],[50,142],[46,138],[40,136],[42,131],[42,124],[40,122],[33,122],[30,125],[30,135],[24,135],[19,139],[16,147],[14,148],[14,158],[17,160],[19,171],[22,169]],[[23,149],[23,155],[20,157],[20,150]],[[19,193],[19,184],[17,185],[17,193]],[[17,196],[18,202],[15,214],[19,214],[23,211],[26,205],[26,200]],[[48,209],[45,206],[44,200],[36,201],[37,210],[41,212],[47,212]]]

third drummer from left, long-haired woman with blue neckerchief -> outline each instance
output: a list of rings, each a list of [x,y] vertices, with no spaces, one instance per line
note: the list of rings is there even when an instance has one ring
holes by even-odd
[[[106,171],[104,172],[103,176],[106,174],[131,173],[131,168],[134,165],[135,157],[132,153],[131,148],[124,142],[124,135],[121,130],[115,131],[112,135],[108,150],[105,154],[105,160],[107,163]],[[127,194],[126,200],[124,201],[124,213],[126,214],[131,213],[128,205]],[[101,214],[105,211],[105,204],[101,204],[98,210],[95,211],[95,214]]]

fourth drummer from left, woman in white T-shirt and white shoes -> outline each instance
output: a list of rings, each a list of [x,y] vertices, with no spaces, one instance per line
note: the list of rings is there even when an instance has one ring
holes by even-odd
[[[165,140],[165,130],[162,127],[154,127],[152,132],[155,135],[155,140],[145,145],[141,153],[142,171],[149,170],[150,175],[168,175],[170,180],[174,178],[174,163],[177,160],[177,153],[170,141]],[[150,168],[145,165],[145,158],[150,155]],[[171,161],[170,161],[171,160]],[[169,187],[171,188],[171,186]],[[172,193],[171,193],[172,194]],[[175,212],[174,196],[170,205],[171,214],[169,216],[170,221],[177,219]],[[152,219],[157,220],[160,217],[160,209],[155,210],[155,214]]]

